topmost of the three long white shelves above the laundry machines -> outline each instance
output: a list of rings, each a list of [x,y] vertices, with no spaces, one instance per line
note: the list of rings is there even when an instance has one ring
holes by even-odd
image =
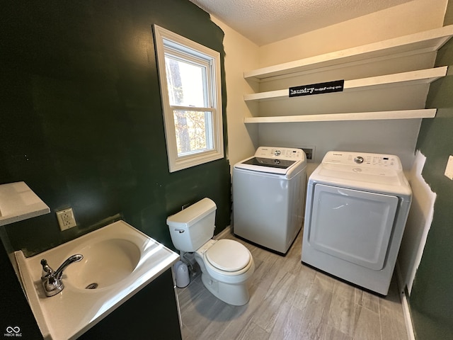
[[[324,67],[344,67],[345,64],[361,64],[363,62],[388,60],[393,57],[417,55],[435,52],[453,36],[453,25],[427,30],[425,32],[404,35],[403,37],[373,42],[368,45],[352,47],[346,50],[330,52],[323,55],[304,58],[294,62],[286,62],[270,67],[263,67],[244,72],[245,79],[260,81],[270,77],[309,72]]]

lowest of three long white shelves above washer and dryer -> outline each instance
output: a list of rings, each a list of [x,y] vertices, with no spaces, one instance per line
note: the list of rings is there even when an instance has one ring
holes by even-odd
[[[378,111],[357,113],[327,113],[320,115],[282,115],[279,117],[250,117],[244,118],[244,123],[304,123],[304,122],[333,122],[338,120],[391,120],[434,118],[436,108],[402,111]]]

